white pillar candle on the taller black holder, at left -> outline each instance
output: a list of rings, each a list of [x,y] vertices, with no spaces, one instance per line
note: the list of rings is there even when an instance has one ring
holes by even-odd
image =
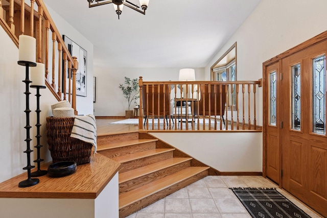
[[[19,58],[18,61],[36,61],[36,39],[32,36],[19,36]]]

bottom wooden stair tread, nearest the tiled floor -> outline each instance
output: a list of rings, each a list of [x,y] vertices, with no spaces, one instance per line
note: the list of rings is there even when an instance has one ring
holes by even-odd
[[[206,171],[210,167],[208,166],[191,166],[181,171],[169,175],[165,178],[159,179],[157,181],[151,182],[144,186],[135,188],[133,190],[121,193],[119,195],[119,208],[124,208],[127,205],[130,205],[138,200],[141,200],[145,197],[152,195],[153,193],[159,192],[166,189],[178,182],[181,182],[185,179],[188,179],[192,176],[195,176],[203,171]]]

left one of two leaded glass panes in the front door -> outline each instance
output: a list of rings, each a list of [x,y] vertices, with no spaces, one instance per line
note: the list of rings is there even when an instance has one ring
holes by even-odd
[[[301,130],[301,65],[292,66],[292,129]]]

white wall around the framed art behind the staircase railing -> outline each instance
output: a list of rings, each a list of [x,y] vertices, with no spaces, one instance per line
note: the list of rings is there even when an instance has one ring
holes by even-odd
[[[50,7],[47,8],[60,34],[66,35],[87,52],[87,93],[86,97],[77,96],[76,110],[78,114],[93,114],[93,44]]]

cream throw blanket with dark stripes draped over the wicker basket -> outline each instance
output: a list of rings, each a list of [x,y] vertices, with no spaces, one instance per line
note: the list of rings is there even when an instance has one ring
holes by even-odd
[[[94,153],[97,153],[97,124],[92,114],[75,116],[71,137],[93,144]]]

